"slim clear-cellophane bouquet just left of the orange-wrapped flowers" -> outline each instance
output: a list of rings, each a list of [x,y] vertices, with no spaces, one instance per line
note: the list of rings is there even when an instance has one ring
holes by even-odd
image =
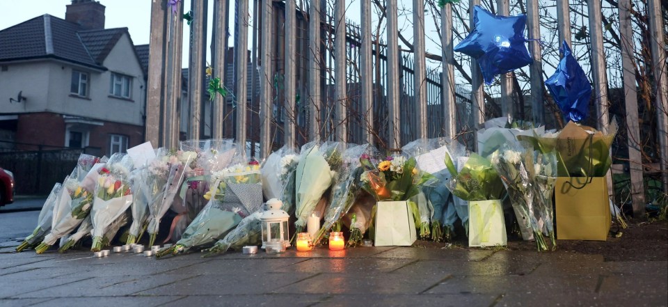
[[[315,237],[311,238],[313,244],[318,244],[325,233],[339,222],[345,214],[348,213],[355,202],[360,189],[360,175],[363,168],[360,163],[360,157],[376,155],[375,148],[369,144],[351,145],[343,153],[343,163],[339,167],[336,178],[332,185],[331,203],[324,215],[324,224],[318,230]],[[356,222],[356,221],[355,221]],[[351,223],[349,229],[351,236],[348,240],[349,246],[355,246],[362,241],[363,233],[356,223]]]

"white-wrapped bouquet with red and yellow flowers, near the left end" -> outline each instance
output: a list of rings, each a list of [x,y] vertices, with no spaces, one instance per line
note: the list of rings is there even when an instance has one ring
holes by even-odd
[[[97,178],[95,200],[90,210],[93,223],[93,246],[90,251],[102,249],[102,237],[113,221],[132,204],[129,175],[132,170],[132,159],[125,154],[116,153],[107,162],[104,171]]]

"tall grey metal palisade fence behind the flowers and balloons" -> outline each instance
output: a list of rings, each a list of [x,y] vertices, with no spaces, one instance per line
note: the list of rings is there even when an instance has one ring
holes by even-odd
[[[212,12],[208,11],[209,1],[214,1]],[[636,4],[635,8],[632,1],[482,1],[500,15],[517,15],[518,10],[527,14],[527,43],[534,60],[526,71],[502,75],[494,88],[484,86],[475,59],[452,51],[453,42],[461,40],[461,33],[468,33],[473,26],[470,8],[481,4],[480,0],[440,1],[445,3],[443,7],[436,6],[436,0],[191,0],[189,9],[182,0],[153,1],[146,137],[154,144],[176,147],[179,112],[188,112],[184,117],[188,120],[186,138],[234,137],[260,158],[285,143],[301,145],[317,140],[369,142],[392,149],[413,139],[450,136],[475,149],[477,127],[495,115],[559,127],[559,119],[550,116],[546,103],[550,98],[544,86],[546,70],[555,65],[544,58],[555,47],[541,41],[558,37],[557,43],[550,45],[560,45],[575,38],[584,46],[581,49],[587,56],[582,58],[588,60],[584,68],[589,70],[594,88],[596,112],[591,125],[605,129],[610,123],[611,107],[615,106],[611,84],[623,79],[621,100],[626,110],[621,113],[626,118],[621,120],[626,123],[623,135],[628,147],[624,159],[633,208],[639,213],[644,210],[644,166],[656,166],[662,189],[668,191],[668,88],[660,0],[641,1],[642,7]],[[574,15],[576,8],[581,8],[580,15],[587,19]],[[635,43],[639,30],[633,25],[641,9],[649,19],[641,33],[649,36],[651,58],[650,63],[644,63],[646,70],[637,69],[637,49],[641,47]],[[185,28],[189,33],[184,33],[182,15],[188,10],[193,20]],[[426,17],[425,12],[435,13]],[[556,16],[555,38],[541,33],[546,22],[541,14]],[[213,26],[212,75],[207,79],[208,17]],[[401,24],[399,17],[404,21]],[[346,22],[348,19],[360,24]],[[406,20],[411,24],[408,29]],[[427,22],[436,24],[438,37],[425,33]],[[582,27],[571,33],[578,23]],[[620,42],[617,54],[623,65],[619,65],[619,74],[611,74],[615,68],[607,59],[610,55],[605,44],[611,29],[617,31],[612,38]],[[190,45],[187,108],[179,107],[184,99],[180,81],[184,35]],[[235,47],[252,46],[250,53],[236,48],[230,63],[225,58],[228,37]],[[426,40],[440,43],[440,54],[429,54]],[[225,80],[228,65],[234,68],[233,80]],[[249,66],[251,69],[246,69]],[[518,74],[527,77],[523,84],[518,84]],[[651,95],[638,93],[642,90],[641,82],[634,81],[638,74],[653,76]],[[608,80],[610,75],[615,80]],[[215,78],[231,84],[228,95],[214,94],[213,103],[204,104],[209,100],[205,80]],[[638,110],[643,104],[638,97],[644,98],[645,109],[652,111],[655,134],[651,137],[646,137],[639,125]],[[205,105],[212,110],[207,113]],[[205,114],[209,118],[203,118]],[[233,129],[225,129],[225,121],[232,121],[229,127]],[[640,139],[651,139],[656,155],[642,155]]]

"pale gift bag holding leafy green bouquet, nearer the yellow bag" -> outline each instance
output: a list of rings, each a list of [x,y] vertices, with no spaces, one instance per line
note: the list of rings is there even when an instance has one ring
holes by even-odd
[[[468,246],[505,246],[506,223],[501,200],[476,200],[468,203]]]

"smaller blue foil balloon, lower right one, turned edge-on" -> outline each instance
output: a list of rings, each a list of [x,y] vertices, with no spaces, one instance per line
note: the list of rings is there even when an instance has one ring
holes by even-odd
[[[559,109],[562,109],[564,118],[578,123],[586,119],[589,114],[591,84],[566,41],[562,52],[564,57],[559,61],[557,71],[545,81],[545,85],[559,105]]]

